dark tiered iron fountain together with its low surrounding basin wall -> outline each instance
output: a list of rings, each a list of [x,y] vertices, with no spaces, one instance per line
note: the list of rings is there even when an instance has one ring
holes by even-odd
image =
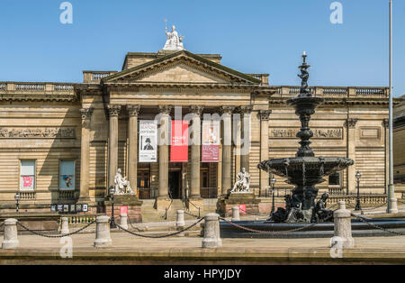
[[[306,63],[306,58],[307,55],[304,52],[302,66],[300,66],[301,75],[299,75],[302,78],[300,95],[287,101],[289,105],[293,105],[296,114],[300,116],[302,127],[297,137],[301,139],[301,147],[294,158],[266,160],[257,165],[259,169],[287,178],[287,183],[295,185],[293,195],[285,196],[285,208],[279,208],[266,221],[220,222],[221,238],[333,237],[333,211],[326,209],[328,194],[322,195],[315,204],[315,198],[318,196],[318,189],[315,186],[323,182],[324,177],[347,169],[355,162],[347,158],[315,157],[311,150],[310,139],[313,136],[310,128],[311,115],[323,103],[323,99],[311,95],[308,87],[310,65]],[[369,224],[359,219],[352,219],[351,222],[352,233],[356,237],[392,235],[384,229],[405,233],[403,219],[367,218]]]

